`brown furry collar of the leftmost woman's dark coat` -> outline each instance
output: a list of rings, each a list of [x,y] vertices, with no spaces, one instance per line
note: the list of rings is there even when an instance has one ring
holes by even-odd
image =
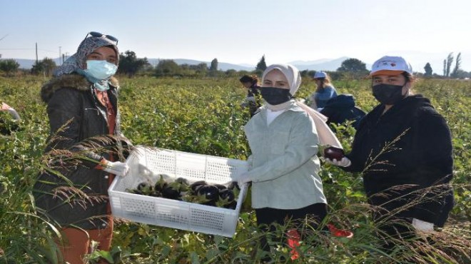
[[[111,88],[118,89],[118,79],[110,78]],[[47,103],[52,95],[61,88],[74,88],[78,91],[90,90],[91,83],[84,77],[78,74],[65,74],[58,78],[52,78],[43,87],[41,87],[41,99]]]

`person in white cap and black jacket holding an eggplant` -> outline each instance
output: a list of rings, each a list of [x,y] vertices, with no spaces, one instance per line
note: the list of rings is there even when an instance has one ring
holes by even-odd
[[[430,100],[412,95],[410,64],[400,56],[384,56],[370,72],[373,96],[379,101],[360,122],[351,152],[328,163],[362,172],[373,218],[386,237],[407,238],[410,230],[441,228],[453,207],[452,142],[445,119]]]

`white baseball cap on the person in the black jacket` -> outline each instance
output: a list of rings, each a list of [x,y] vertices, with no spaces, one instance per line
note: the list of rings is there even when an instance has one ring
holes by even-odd
[[[412,66],[400,56],[384,56],[375,61],[370,75],[397,75],[403,72],[412,74]]]

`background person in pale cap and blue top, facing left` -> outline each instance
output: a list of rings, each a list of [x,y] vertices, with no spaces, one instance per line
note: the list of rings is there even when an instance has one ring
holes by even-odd
[[[325,107],[327,101],[337,96],[337,91],[330,81],[330,77],[324,71],[316,71],[313,80],[317,86],[315,92],[310,96],[310,108],[320,111]]]

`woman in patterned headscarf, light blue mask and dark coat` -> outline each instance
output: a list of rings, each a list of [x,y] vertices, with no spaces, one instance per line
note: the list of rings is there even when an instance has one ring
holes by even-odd
[[[90,36],[88,36],[90,35]],[[64,262],[83,263],[91,240],[109,250],[113,218],[108,186],[125,176],[118,111],[117,39],[90,32],[41,88],[47,103],[51,160],[35,186],[39,213],[61,226]],[[123,156],[121,156],[123,160]],[[55,173],[55,171],[59,173]]]

